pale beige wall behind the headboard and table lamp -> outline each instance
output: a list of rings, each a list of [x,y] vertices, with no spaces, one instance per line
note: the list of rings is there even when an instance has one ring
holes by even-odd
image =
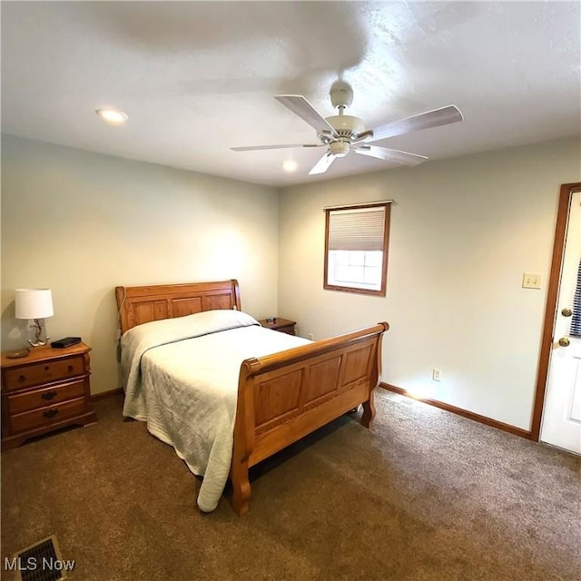
[[[91,345],[94,393],[120,386],[116,285],[237,278],[260,318],[277,258],[275,189],[3,136],[2,349],[25,343],[14,289],[48,287],[49,334]]]

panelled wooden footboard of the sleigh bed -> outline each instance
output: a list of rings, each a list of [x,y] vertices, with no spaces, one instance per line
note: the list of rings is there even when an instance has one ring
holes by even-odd
[[[369,428],[386,322],[242,362],[234,426],[232,507],[250,508],[248,470],[292,442],[363,404]]]

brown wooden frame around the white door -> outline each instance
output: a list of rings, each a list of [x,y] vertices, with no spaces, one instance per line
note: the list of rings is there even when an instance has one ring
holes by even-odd
[[[547,286],[547,307],[545,309],[545,322],[541,349],[538,358],[537,389],[535,391],[535,405],[533,408],[533,421],[530,430],[530,439],[538,441],[541,432],[541,419],[545,406],[545,393],[547,391],[548,363],[553,345],[553,330],[555,328],[555,312],[558,301],[559,285],[561,281],[561,265],[566,242],[566,223],[569,217],[569,203],[573,192],[581,190],[581,182],[564,183],[559,194],[558,210],[556,213],[555,241],[553,243],[553,259]]]

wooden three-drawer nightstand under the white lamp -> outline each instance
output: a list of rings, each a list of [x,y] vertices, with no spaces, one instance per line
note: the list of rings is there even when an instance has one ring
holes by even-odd
[[[34,347],[23,358],[2,354],[2,449],[97,418],[91,407],[90,347]]]

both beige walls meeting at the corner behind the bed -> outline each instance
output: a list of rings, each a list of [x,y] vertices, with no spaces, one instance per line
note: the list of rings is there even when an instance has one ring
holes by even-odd
[[[24,342],[14,289],[50,287],[50,334],[81,335],[93,392],[114,389],[115,285],[235,277],[244,310],[315,339],[388,320],[384,381],[528,429],[558,188],[581,181],[580,153],[564,140],[277,192],[4,136],[2,349]],[[387,297],[323,291],[321,208],[383,199]]]

